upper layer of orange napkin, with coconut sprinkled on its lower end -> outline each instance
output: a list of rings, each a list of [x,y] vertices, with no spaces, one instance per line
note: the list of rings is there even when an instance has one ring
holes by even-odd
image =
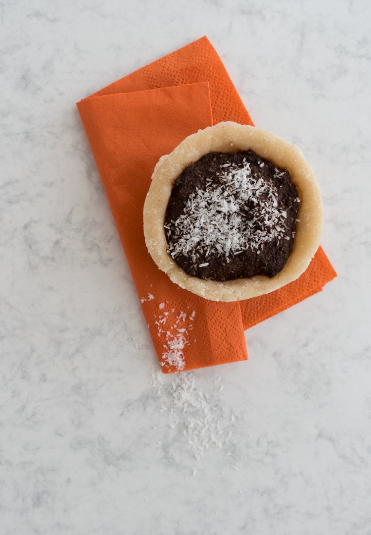
[[[239,304],[178,288],[154,264],[143,235],[158,159],[212,125],[208,82],[95,96],[78,108],[163,371],[246,360]]]

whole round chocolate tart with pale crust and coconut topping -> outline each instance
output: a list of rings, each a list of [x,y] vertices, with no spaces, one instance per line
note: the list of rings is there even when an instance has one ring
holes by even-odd
[[[296,280],[322,226],[321,190],[302,151],[231,122],[161,157],[144,203],[154,262],[181,288],[213,301],[250,299]]]

